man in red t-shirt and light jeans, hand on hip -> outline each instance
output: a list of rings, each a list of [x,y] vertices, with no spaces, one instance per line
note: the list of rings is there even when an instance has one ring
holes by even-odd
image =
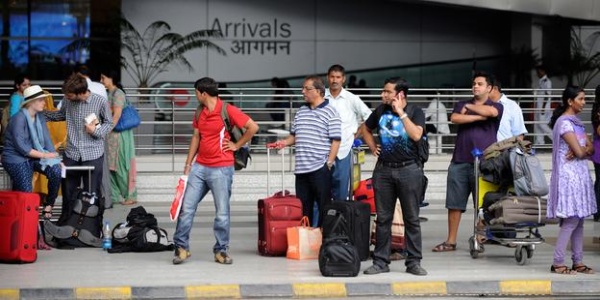
[[[231,126],[245,129],[244,135],[234,143],[221,117],[221,109],[225,103],[218,97],[218,83],[212,78],[204,77],[196,81],[194,87],[196,98],[203,108],[192,122],[194,135],[183,171],[184,175],[188,175],[188,182],[177,219],[173,264],[180,264],[191,255],[189,240],[194,214],[208,191],[213,194],[216,208],[213,226],[216,239],[213,246],[215,261],[231,264],[229,199],[234,171],[233,152],[252,139],[258,131],[258,125],[237,107],[227,105]]]

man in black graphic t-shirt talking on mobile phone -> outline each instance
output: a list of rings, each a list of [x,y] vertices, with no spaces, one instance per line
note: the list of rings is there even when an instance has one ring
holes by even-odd
[[[382,104],[365,121],[363,138],[377,164],[373,170],[373,189],[377,210],[377,237],[373,265],[364,271],[373,275],[389,272],[391,230],[396,199],[400,199],[404,219],[407,257],[406,272],[423,276],[421,267],[421,223],[419,203],[423,189],[423,166],[419,160],[418,142],[425,128],[421,108],[407,103],[408,83],[401,78],[385,80]],[[373,131],[379,132],[380,145]]]

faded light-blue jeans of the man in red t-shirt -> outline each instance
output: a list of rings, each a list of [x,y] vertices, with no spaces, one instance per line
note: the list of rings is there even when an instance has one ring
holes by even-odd
[[[173,238],[176,247],[190,249],[190,231],[194,223],[196,209],[208,191],[211,191],[216,210],[213,225],[216,242],[213,246],[213,252],[227,252],[229,250],[229,228],[231,223],[229,200],[232,182],[233,166],[211,168],[194,163],[188,174],[188,183]]]

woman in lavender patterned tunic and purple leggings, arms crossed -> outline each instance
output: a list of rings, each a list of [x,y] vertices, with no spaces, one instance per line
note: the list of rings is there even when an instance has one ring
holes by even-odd
[[[596,196],[588,158],[594,147],[577,117],[585,106],[585,93],[569,86],[563,91],[562,103],[550,120],[553,128],[552,175],[548,196],[548,218],[560,219],[560,231],[550,271],[558,274],[593,274],[583,264],[583,222],[597,210]],[[571,242],[571,268],[565,265],[567,244]]]

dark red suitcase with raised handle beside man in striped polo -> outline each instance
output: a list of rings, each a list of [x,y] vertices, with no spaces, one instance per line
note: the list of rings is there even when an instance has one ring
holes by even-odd
[[[270,155],[267,150],[267,193],[271,175]],[[284,158],[282,150],[282,191],[258,200],[258,253],[266,256],[285,256],[287,228],[298,226],[302,219],[302,201],[283,188]]]

